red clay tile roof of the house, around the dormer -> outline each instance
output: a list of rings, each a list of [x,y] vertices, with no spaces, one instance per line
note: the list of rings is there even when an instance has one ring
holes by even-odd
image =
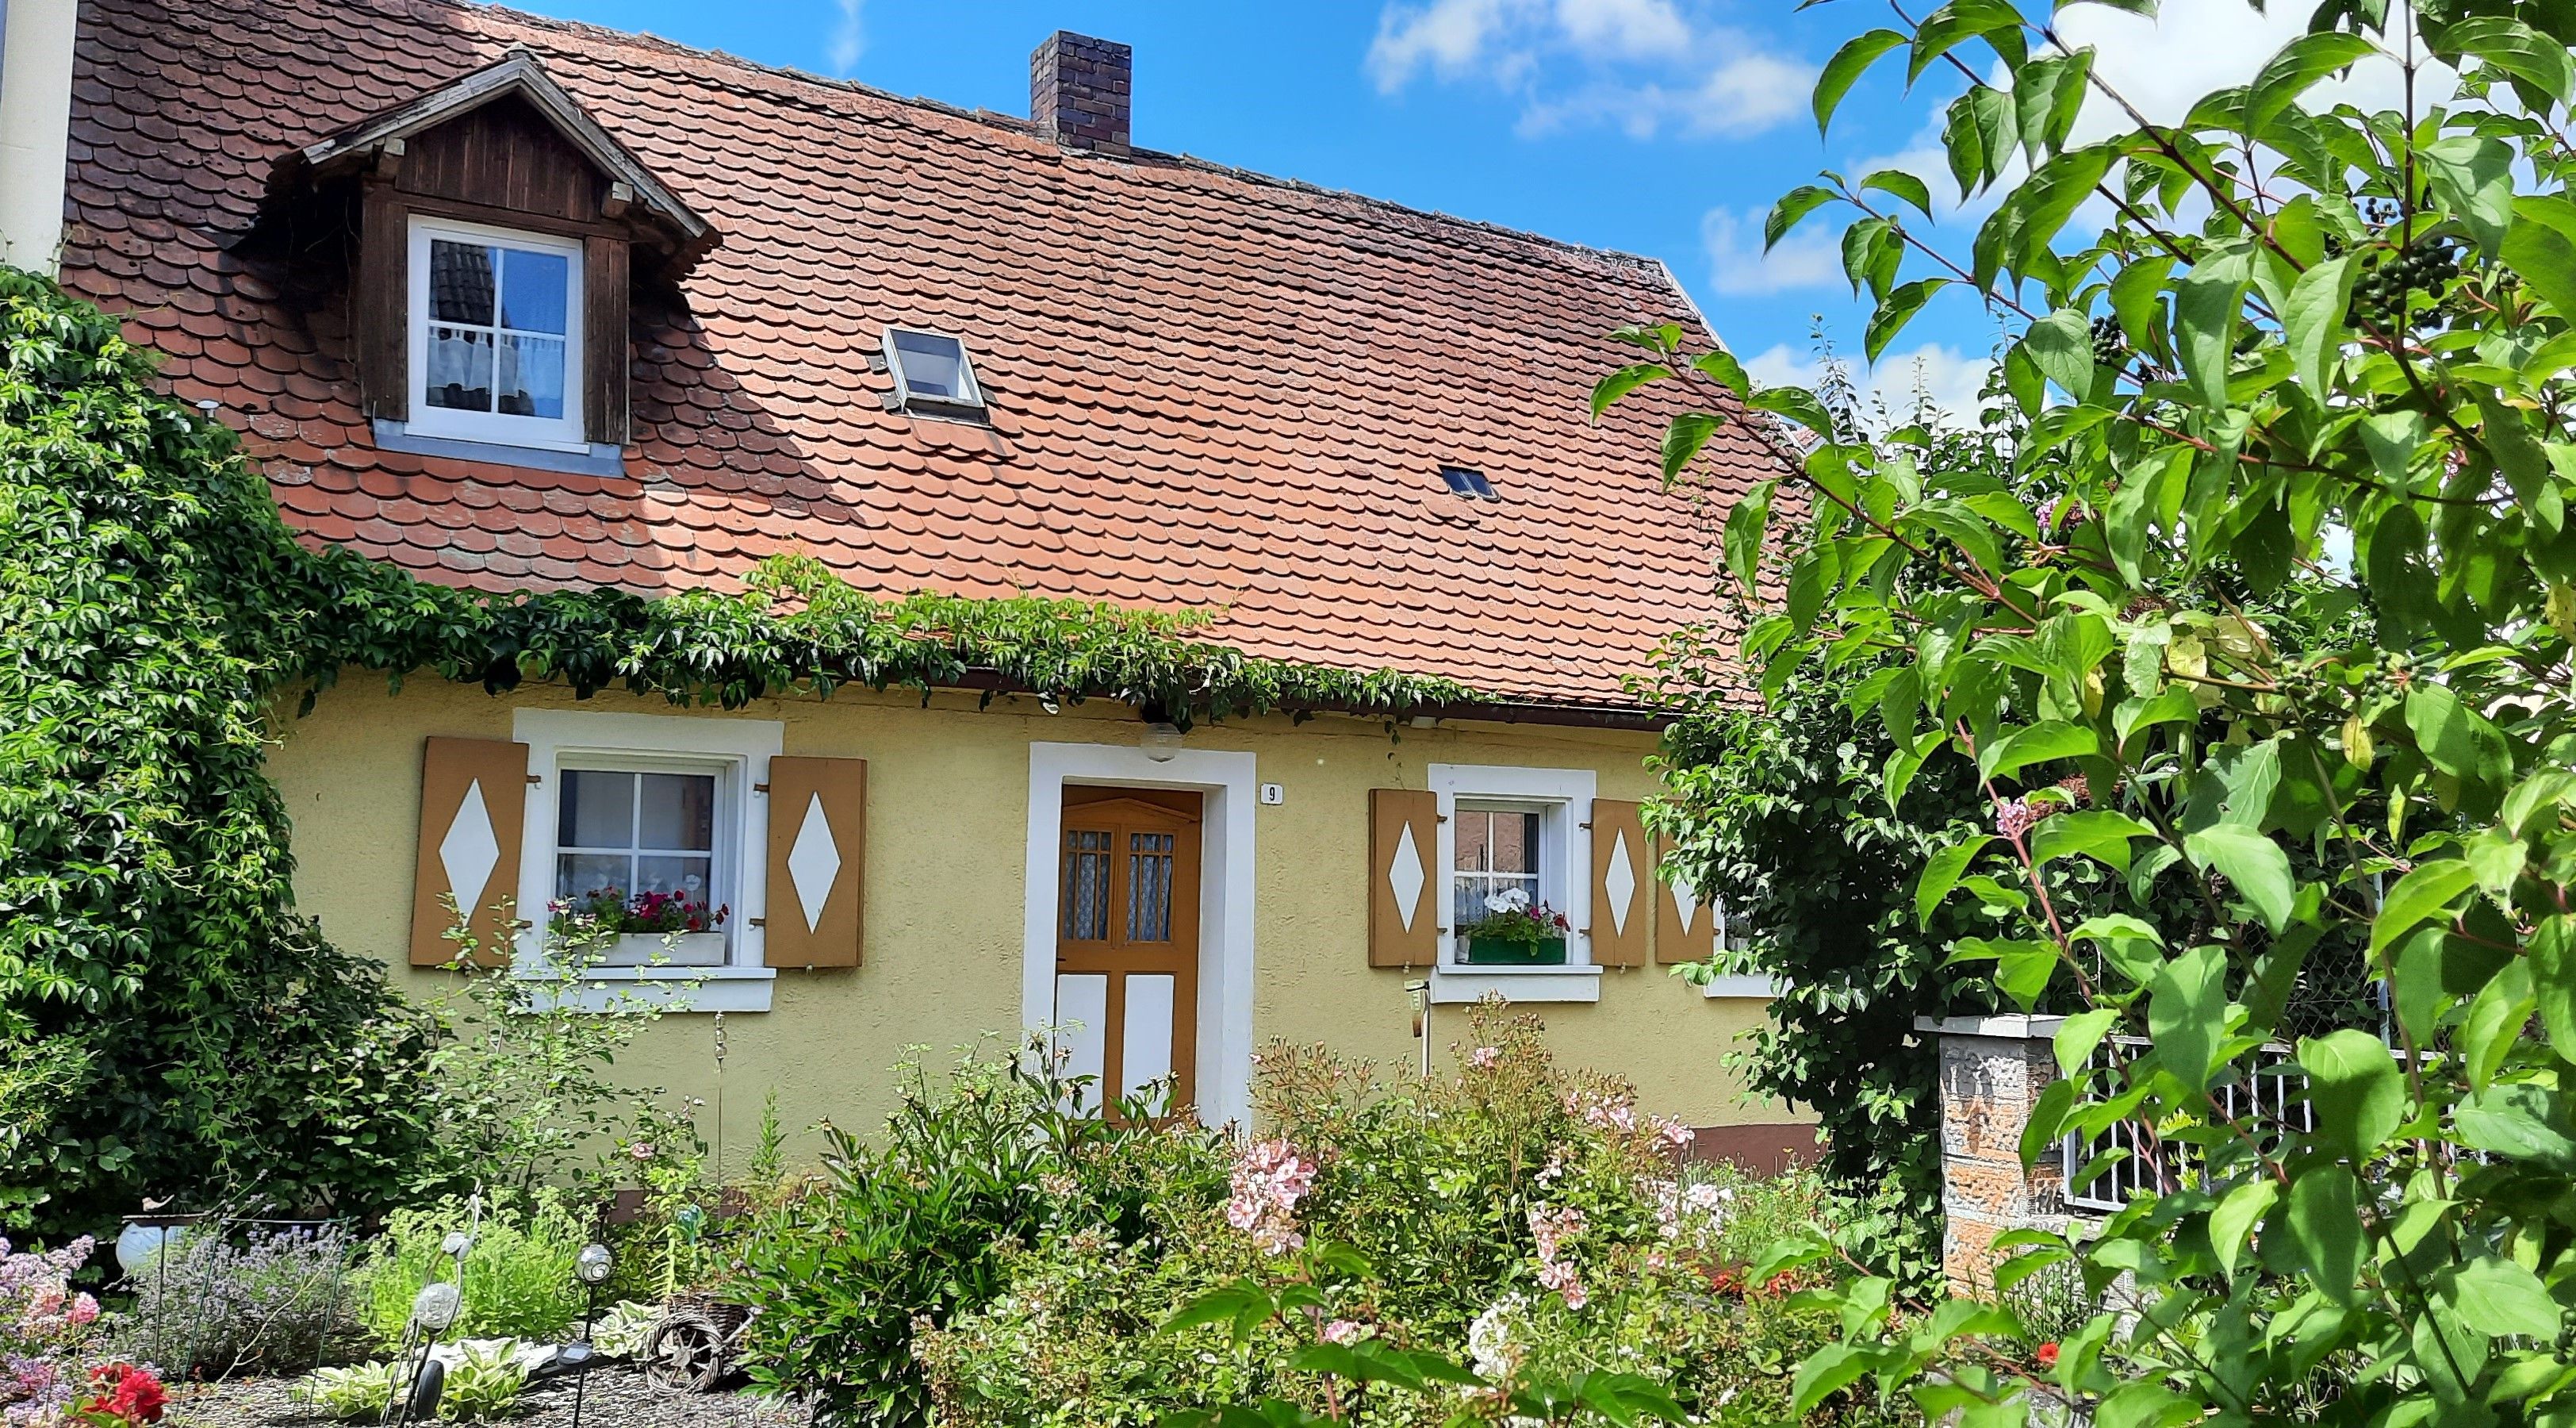
[[[281,152],[513,44],[724,235],[685,314],[639,299],[618,479],[379,451],[345,304],[229,250]],[[804,549],[866,590],[1218,608],[1257,655],[1625,706],[1721,613],[1716,518],[1780,469],[1728,425],[1703,505],[1659,490],[1659,412],[1587,420],[1613,327],[1700,330],[1659,263],[479,5],[88,0],[67,209],[64,284],[222,402],[296,528],[495,590]],[[966,338],[989,430],[884,410],[889,322]]]

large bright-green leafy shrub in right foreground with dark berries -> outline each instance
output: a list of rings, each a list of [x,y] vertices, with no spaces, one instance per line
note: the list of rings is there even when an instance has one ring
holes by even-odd
[[[1927,864],[1919,907],[1973,897],[1994,928],[1955,956],[2020,1005],[2076,1008],[2022,1155],[2133,1121],[2146,1188],[2092,1232],[1996,1242],[1999,1286],[2074,1266],[2102,1299],[2050,1366],[2009,1299],[1904,1304],[1860,1273],[1801,1405],[1875,1384],[1971,1425],[2025,1420],[2040,1389],[2097,1423],[2576,1420],[2571,41],[2561,8],[2326,0],[2179,124],[2007,0],[1824,67],[1819,119],[1878,59],[1947,70],[1950,168],[1999,193],[1963,255],[1896,217],[1927,198],[1909,175],[1829,175],[1770,232],[1860,209],[1844,255],[1878,296],[1873,353],[1935,299],[2012,312],[2014,464],[2058,495],[1752,392],[1819,441],[1777,531],[1788,598],[1744,650],[1770,678],[1901,660],[1852,699],[1904,745],[1891,796],[1953,755],[1991,809]],[[2311,98],[2354,64],[2398,101]],[[2125,121],[2076,139],[2087,103]],[[2115,214],[2099,237],[2071,229],[2089,201]],[[1741,371],[1631,338],[1654,361],[1607,397],[1736,389],[1674,425],[1682,474],[1744,410]],[[1747,588],[1775,495],[1728,518]],[[2282,639],[2259,601],[2295,577],[2365,632]],[[2061,907],[2063,861],[2117,874],[2120,902]],[[2287,1021],[2339,956],[2388,990],[2385,1039]],[[2272,1070],[2306,1088],[2295,1114],[2228,1095]],[[1775,1263],[1834,1253],[1808,1237]]]

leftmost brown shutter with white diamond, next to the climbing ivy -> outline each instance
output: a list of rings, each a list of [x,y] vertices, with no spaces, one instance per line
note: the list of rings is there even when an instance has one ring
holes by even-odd
[[[510,740],[438,740],[420,755],[420,864],[412,871],[412,967],[443,967],[461,951],[448,941],[456,912],[471,915],[477,961],[510,956],[520,915],[518,845],[528,822],[528,745]],[[448,910],[448,897],[456,910]]]

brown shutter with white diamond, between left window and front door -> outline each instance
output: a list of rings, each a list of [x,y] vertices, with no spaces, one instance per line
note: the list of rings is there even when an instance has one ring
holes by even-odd
[[[868,887],[868,760],[770,760],[770,967],[858,967]]]

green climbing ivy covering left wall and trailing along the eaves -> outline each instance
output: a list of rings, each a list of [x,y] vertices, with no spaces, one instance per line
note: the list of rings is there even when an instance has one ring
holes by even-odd
[[[1473,701],[1260,660],[1206,616],[876,601],[811,559],[742,593],[474,593],[301,546],[232,433],[52,281],[0,268],[0,1219],[142,1193],[366,1214],[428,1129],[435,1028],[294,912],[270,717],[345,668],[739,709],[837,686],[1118,699],[1177,724]],[[989,699],[989,693],[987,693]]]

